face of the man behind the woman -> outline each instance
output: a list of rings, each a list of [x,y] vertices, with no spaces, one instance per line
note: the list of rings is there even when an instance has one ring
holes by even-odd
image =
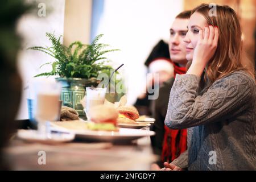
[[[187,34],[189,19],[176,18],[170,28],[169,51],[171,60],[186,65],[186,43],[183,41]]]

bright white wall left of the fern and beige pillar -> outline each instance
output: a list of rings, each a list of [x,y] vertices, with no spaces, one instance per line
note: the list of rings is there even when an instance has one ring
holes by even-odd
[[[36,2],[36,5],[39,3],[46,5],[46,16],[39,16],[38,11],[42,12],[42,9],[35,7],[36,11],[23,16],[18,23],[18,32],[23,37],[22,51],[20,51],[18,57],[19,72],[23,80],[23,94],[16,119],[28,118],[27,90],[24,88],[27,87],[35,75],[51,70],[49,66],[39,69],[40,65],[54,60],[45,53],[27,50],[27,48],[31,46],[50,46],[51,44],[46,38],[46,32],[55,32],[57,36],[63,35],[65,0],[40,0]]]

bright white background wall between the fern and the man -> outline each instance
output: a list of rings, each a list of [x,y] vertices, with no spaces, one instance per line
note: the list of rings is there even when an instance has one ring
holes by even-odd
[[[109,53],[114,67],[121,69],[128,88],[128,102],[133,104],[146,79],[144,61],[160,39],[168,41],[175,16],[183,10],[183,1],[105,0],[100,20],[92,22],[94,34],[104,34],[102,43],[121,49]],[[96,30],[95,30],[96,29]]]

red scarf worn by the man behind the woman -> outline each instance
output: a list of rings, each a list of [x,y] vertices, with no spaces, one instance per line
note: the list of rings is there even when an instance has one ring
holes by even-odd
[[[174,63],[174,78],[176,74],[181,75],[185,72],[185,67],[179,67]],[[162,162],[172,162],[185,150],[187,150],[187,129],[172,130],[164,125]]]

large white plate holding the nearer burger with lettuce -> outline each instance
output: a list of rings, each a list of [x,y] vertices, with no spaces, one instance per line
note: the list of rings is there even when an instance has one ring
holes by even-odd
[[[68,130],[52,124],[52,130],[75,133],[77,139],[96,140],[101,142],[129,142],[134,139],[155,135],[154,131],[119,128],[119,131],[78,131]]]

